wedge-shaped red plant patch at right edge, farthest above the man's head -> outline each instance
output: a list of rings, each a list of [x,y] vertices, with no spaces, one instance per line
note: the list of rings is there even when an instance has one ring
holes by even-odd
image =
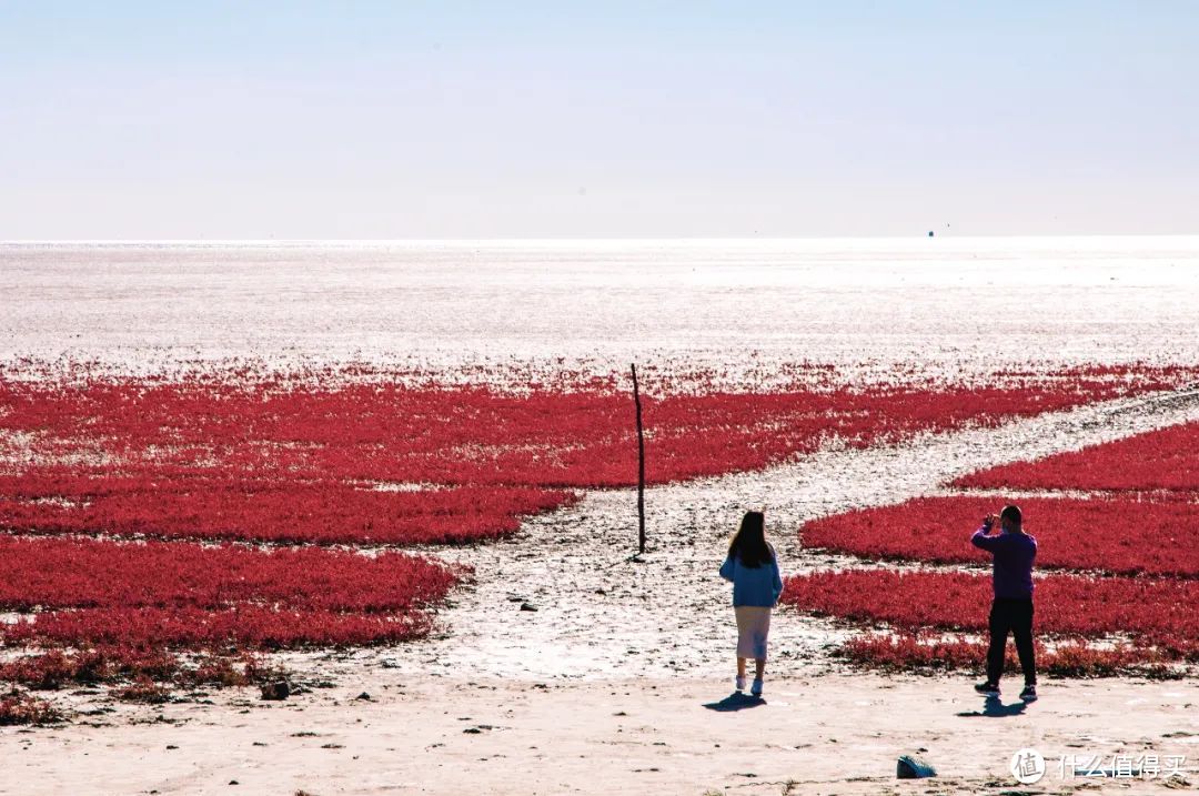
[[[963,488],[1175,492],[1199,499],[1199,423],[963,476]]]

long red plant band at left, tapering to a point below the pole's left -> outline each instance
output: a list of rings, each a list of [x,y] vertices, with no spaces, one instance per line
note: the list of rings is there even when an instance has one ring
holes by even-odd
[[[522,514],[574,500],[528,487],[381,492],[297,481],[79,476],[58,466],[0,476],[0,526],[38,533],[284,543],[454,543],[504,536]]]

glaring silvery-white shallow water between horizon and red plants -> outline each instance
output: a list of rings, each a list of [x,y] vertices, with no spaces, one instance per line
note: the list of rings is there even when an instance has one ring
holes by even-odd
[[[1193,361],[1199,237],[0,243],[0,361]]]

